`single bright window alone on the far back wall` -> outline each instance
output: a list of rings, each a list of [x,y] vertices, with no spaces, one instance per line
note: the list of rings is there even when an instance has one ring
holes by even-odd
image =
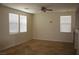
[[[71,32],[71,16],[60,16],[60,32]]]

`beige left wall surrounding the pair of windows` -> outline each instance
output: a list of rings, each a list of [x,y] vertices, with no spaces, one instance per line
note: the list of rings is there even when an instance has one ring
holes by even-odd
[[[24,14],[28,17],[28,31],[26,33],[9,34],[8,13]],[[32,39],[32,14],[24,13],[15,9],[0,5],[0,50],[21,44]]]

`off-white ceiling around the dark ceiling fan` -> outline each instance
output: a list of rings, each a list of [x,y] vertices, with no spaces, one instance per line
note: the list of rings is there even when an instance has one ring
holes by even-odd
[[[28,13],[40,13],[42,6],[53,9],[50,12],[75,11],[79,6],[78,3],[3,3],[3,5]]]

